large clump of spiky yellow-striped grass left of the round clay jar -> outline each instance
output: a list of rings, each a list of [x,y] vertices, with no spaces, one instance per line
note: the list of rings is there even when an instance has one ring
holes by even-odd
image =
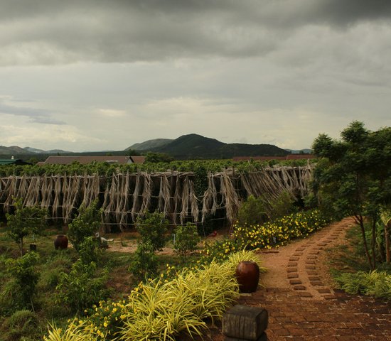
[[[176,340],[186,331],[200,335],[205,320],[220,319],[237,297],[235,269],[212,262],[183,271],[171,281],[152,281],[132,291],[121,340]]]

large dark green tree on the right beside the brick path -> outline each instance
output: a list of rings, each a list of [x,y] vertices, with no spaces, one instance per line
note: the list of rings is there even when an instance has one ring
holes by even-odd
[[[376,266],[376,222],[382,205],[391,202],[391,128],[369,131],[353,121],[341,140],[319,135],[313,144],[321,158],[314,173],[314,190],[323,209],[336,217],[352,215],[360,225],[371,269]],[[368,245],[366,221],[369,222]]]

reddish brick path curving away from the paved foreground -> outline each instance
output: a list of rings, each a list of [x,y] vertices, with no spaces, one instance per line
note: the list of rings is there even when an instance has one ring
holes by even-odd
[[[331,224],[291,245],[286,264],[271,275],[276,283],[240,296],[240,304],[268,310],[269,341],[391,341],[390,301],[333,290],[318,271],[323,250],[336,244],[351,224],[348,219]],[[279,256],[269,260],[271,270]]]

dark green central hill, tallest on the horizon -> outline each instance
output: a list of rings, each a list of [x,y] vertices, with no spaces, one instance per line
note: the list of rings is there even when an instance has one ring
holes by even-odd
[[[216,139],[188,134],[178,137],[164,146],[149,151],[167,153],[186,160],[196,158],[232,158],[233,156],[286,156],[282,148],[272,144],[225,144]]]

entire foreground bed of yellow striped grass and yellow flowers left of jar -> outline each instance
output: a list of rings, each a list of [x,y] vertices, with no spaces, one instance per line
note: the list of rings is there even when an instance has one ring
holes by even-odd
[[[225,310],[235,302],[238,285],[235,268],[239,261],[257,261],[257,254],[241,251],[227,261],[184,270],[171,280],[156,279],[140,283],[127,300],[100,302],[89,310],[85,320],[73,321],[65,330],[76,330],[80,340],[92,331],[92,340],[176,340],[181,332],[200,335],[205,320],[223,317]],[[260,264],[259,264],[260,266]],[[263,268],[261,268],[263,269]],[[51,328],[53,334],[58,328]],[[64,332],[62,332],[64,335]],[[77,340],[73,338],[46,338],[46,341]],[[89,339],[87,339],[89,340]]]

